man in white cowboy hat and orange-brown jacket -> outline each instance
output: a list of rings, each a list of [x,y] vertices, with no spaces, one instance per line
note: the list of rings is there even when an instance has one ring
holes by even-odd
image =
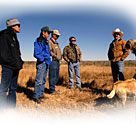
[[[109,46],[108,58],[111,62],[113,81],[124,81],[124,60],[129,55],[129,49],[126,48],[126,41],[122,40],[123,32],[117,28],[112,31],[114,40]]]

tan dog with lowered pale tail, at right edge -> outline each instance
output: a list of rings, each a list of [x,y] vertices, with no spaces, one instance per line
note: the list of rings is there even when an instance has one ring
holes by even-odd
[[[109,95],[108,98],[113,98],[114,95],[117,94],[118,97],[122,100],[122,104],[125,105],[127,96],[134,95],[134,101],[136,96],[136,80],[129,79],[126,81],[117,81],[114,83],[113,90]]]

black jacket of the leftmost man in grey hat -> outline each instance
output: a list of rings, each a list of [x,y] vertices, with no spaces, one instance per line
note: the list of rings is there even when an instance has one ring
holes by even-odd
[[[0,32],[0,65],[13,70],[20,70],[23,65],[19,42],[12,29]]]

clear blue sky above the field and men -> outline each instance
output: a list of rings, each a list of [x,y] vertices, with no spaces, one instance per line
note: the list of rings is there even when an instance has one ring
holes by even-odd
[[[4,6],[6,7],[5,4]],[[110,8],[104,5],[73,4],[56,7],[53,4],[46,7],[38,4],[31,5],[28,9],[28,6],[19,4],[12,7],[14,8],[12,13],[8,11],[5,15],[0,15],[0,30],[6,28],[6,19],[14,17],[19,19],[21,32],[18,34],[18,39],[24,60],[35,60],[33,44],[43,26],[60,31],[62,35],[58,43],[62,52],[69,43],[69,37],[75,36],[83,54],[82,60],[107,60],[108,47],[113,40],[112,31],[116,28],[124,32],[122,39],[135,39],[135,25],[129,15],[114,6]],[[134,56],[130,54],[127,59],[134,59]]]

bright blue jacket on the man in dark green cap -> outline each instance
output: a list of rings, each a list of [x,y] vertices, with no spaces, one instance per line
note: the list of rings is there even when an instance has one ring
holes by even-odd
[[[51,63],[51,54],[49,43],[45,43],[44,40],[42,42],[38,42],[37,40],[34,42],[34,57],[37,61],[43,62],[45,61],[47,64]]]

